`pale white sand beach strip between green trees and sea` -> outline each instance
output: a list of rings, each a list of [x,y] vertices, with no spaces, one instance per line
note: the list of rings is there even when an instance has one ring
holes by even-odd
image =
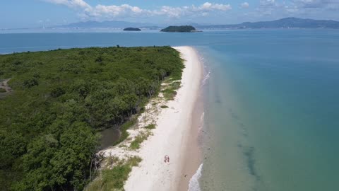
[[[184,59],[182,86],[174,100],[167,101],[168,108],[150,112],[151,117],[147,120],[156,124],[153,136],[148,137],[138,151],[126,151],[122,146],[103,151],[105,156],[142,158],[141,163],[133,167],[124,185],[125,190],[187,190],[191,176],[200,165],[197,121],[200,121],[198,115],[201,114],[197,111],[201,111],[201,105],[196,105],[196,102],[200,96],[203,67],[194,48],[174,48]],[[157,102],[158,108],[159,104],[163,103]],[[148,107],[154,106],[150,103]],[[129,131],[131,136],[139,133],[138,128]],[[164,162],[166,155],[169,163]]]

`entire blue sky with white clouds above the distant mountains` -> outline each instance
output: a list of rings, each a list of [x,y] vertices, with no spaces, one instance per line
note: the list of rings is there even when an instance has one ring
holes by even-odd
[[[213,23],[287,16],[339,20],[339,0],[1,0],[0,28],[78,21]]]

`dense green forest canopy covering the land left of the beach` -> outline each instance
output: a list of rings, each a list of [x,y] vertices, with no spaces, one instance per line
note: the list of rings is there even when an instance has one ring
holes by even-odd
[[[13,89],[0,99],[1,190],[83,190],[98,129],[129,122],[183,67],[171,47],[0,55]]]

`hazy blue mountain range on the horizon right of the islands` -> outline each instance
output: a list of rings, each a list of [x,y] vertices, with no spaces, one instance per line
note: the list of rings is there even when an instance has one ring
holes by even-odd
[[[261,21],[261,22],[245,22],[235,25],[195,25],[196,28],[200,29],[223,29],[223,28],[339,28],[338,21],[331,20],[314,20],[314,19],[303,19],[303,18],[282,18],[275,21]]]

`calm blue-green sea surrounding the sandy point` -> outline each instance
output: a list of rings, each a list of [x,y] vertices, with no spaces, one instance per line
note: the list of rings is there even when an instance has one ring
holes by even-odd
[[[116,45],[201,55],[201,190],[339,190],[339,30],[0,34],[2,54]]]

